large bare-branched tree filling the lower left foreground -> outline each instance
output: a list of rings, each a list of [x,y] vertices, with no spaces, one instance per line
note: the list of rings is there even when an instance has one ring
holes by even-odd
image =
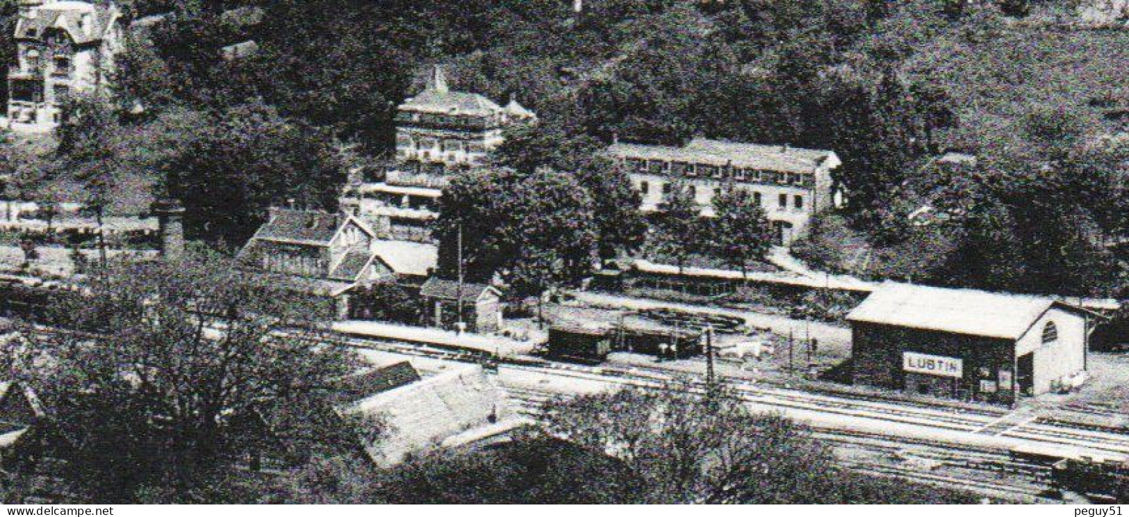
[[[93,333],[28,327],[7,351],[73,445],[63,475],[88,496],[184,496],[239,457],[356,439],[326,412],[331,380],[357,362],[322,339],[324,305],[210,254],[115,263],[87,289],[51,313]]]

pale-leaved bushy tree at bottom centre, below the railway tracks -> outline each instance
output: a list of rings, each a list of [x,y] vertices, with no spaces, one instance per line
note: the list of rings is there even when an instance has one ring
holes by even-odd
[[[554,401],[548,429],[622,461],[651,503],[824,501],[832,458],[809,430],[685,384]]]

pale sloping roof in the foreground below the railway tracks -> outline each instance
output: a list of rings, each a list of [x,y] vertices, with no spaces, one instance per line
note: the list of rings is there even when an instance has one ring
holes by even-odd
[[[387,423],[388,436],[367,447],[373,461],[385,466],[408,453],[510,417],[505,393],[479,366],[390,389],[344,411],[383,418]]]

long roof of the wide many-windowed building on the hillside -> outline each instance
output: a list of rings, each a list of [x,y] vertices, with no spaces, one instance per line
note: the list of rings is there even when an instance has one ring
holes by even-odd
[[[812,173],[834,156],[832,151],[786,146],[735,143],[694,139],[685,147],[614,143],[607,152],[616,158],[660,159],[758,170]]]

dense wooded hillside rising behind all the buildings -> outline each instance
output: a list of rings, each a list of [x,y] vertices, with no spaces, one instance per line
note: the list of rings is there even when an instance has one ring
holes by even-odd
[[[515,96],[559,144],[502,163],[693,135],[832,149],[850,199],[799,246],[815,265],[1124,296],[1129,32],[1080,26],[1075,3],[135,0],[115,108],[79,111],[42,163],[7,146],[8,189],[170,192],[191,236],[239,245],[268,204],[333,209],[439,63],[458,89]],[[947,150],[977,165],[930,165]]]

